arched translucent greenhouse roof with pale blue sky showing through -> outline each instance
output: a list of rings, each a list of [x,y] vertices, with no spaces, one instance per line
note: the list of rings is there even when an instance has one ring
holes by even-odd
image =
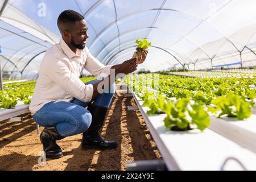
[[[1,6],[3,2],[0,1]],[[63,10],[72,9],[85,16],[89,28],[86,46],[104,64],[129,59],[135,40],[147,38],[152,47],[139,68],[160,71],[174,67],[253,67],[255,7],[253,0],[10,0],[0,18],[0,46],[5,56],[1,59],[14,63],[7,63],[13,68],[6,71],[38,72],[44,52],[59,42],[57,17]],[[30,28],[46,35],[31,33]]]

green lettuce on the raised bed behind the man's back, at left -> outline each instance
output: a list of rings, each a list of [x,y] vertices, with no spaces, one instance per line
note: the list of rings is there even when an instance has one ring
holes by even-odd
[[[82,82],[88,82],[96,79],[95,77],[81,78]],[[0,90],[0,108],[15,108],[18,101],[25,105],[30,104],[31,97],[34,94],[36,81],[17,82],[13,84],[4,84],[3,90]]]

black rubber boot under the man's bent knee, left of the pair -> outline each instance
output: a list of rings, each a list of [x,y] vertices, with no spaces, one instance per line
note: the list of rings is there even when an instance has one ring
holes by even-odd
[[[40,140],[43,144],[44,152],[46,153],[46,158],[49,159],[59,159],[63,157],[62,150],[60,146],[57,145],[56,140],[61,140],[62,137],[56,130],[55,127],[45,127],[40,134]]]

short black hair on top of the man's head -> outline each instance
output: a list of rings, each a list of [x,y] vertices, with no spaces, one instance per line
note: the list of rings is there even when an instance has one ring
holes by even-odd
[[[76,21],[80,21],[83,19],[84,19],[84,16],[82,16],[80,13],[73,10],[65,10],[59,15],[57,24],[59,24],[60,22],[76,23]]]

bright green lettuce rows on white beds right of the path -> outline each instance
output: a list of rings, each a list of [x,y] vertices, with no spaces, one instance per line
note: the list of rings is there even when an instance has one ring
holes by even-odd
[[[189,78],[172,75],[130,75],[130,89],[140,97],[147,114],[163,114],[166,127],[177,130],[209,127],[209,115],[249,118],[256,97],[256,79]]]

